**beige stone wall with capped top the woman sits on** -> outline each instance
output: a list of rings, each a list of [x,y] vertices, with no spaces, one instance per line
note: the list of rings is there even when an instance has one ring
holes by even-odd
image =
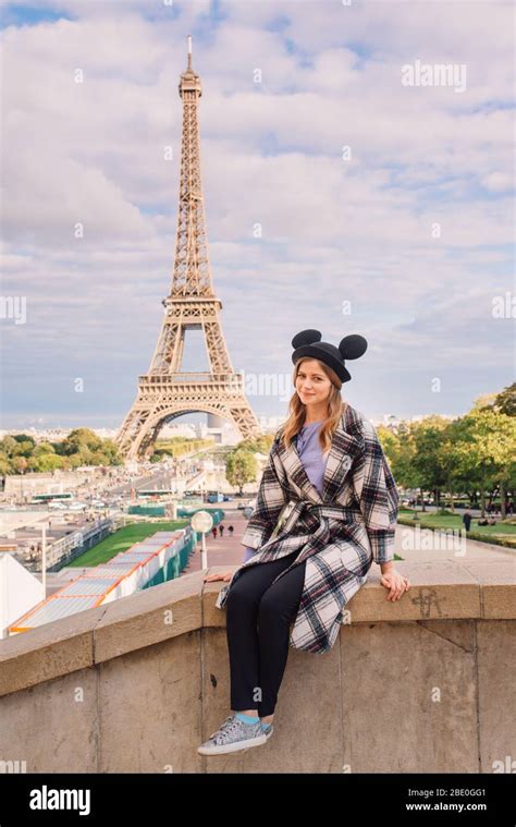
[[[204,572],[0,642],[0,769],[508,771],[515,563],[397,568],[401,600],[373,567],[331,652],[290,649],[274,734],[239,755],[197,753],[230,713],[222,584]]]

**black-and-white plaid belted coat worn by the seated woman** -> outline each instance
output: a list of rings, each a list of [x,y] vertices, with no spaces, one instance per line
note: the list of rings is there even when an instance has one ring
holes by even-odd
[[[394,557],[398,494],[374,426],[349,404],[327,453],[322,496],[310,483],[295,442],[285,449],[280,441],[282,428],[271,446],[242,539],[256,554],[236,569],[216,605],[224,608],[244,569],[298,549],[273,582],[306,560],[290,645],[323,653],[335,643],[344,606],[366,583],[372,561]]]

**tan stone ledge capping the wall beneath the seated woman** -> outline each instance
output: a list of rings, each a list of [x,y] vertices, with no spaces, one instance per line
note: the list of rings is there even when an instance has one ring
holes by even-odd
[[[225,625],[216,607],[222,581],[205,583],[214,565],[0,641],[0,696],[202,628]],[[353,624],[407,620],[516,618],[516,561],[397,561],[410,580],[401,600],[385,599],[380,570],[352,598]]]

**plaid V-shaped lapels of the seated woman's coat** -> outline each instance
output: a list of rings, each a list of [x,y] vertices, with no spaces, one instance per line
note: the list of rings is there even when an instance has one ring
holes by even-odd
[[[355,423],[355,411],[347,405],[333,434],[330,451],[325,454],[322,496],[310,483],[295,442],[285,449],[280,441],[279,455],[287,477],[299,488],[302,496],[311,502],[331,502],[334,499],[353,460],[363,450],[364,439],[349,433],[357,433]]]

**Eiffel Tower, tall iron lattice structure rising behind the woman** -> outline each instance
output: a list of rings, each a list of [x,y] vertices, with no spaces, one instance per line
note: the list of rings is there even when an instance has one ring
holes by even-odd
[[[181,146],[180,205],[174,271],[170,294],[148,373],[138,379],[138,392],[115,442],[127,459],[146,458],[162,426],[185,413],[206,412],[232,422],[242,437],[261,434],[244,393],[244,379],[233,370],[222,332],[222,302],[213,293],[200,174],[197,108],[201,96],[199,75],[188,64],[181,75],[183,136]],[[202,330],[210,369],[182,372],[186,330]]]

